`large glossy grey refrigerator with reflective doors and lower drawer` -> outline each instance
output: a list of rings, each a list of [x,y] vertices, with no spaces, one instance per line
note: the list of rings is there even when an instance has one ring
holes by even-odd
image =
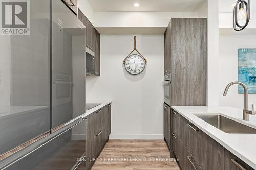
[[[86,28],[61,0],[27,2],[29,35],[0,35],[0,169],[74,169],[85,152]]]

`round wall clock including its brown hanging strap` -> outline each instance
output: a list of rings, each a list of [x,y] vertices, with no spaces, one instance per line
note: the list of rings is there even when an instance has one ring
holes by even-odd
[[[123,60],[124,67],[130,74],[138,75],[144,70],[146,63],[147,60],[136,48],[136,36],[134,36],[134,50]]]

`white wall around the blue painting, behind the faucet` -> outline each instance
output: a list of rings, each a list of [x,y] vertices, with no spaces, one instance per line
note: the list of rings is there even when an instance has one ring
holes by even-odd
[[[222,96],[226,85],[238,81],[238,49],[256,48],[255,35],[220,35],[219,38],[219,102],[220,106],[244,108],[244,95],[238,94],[238,86],[231,87],[226,97]],[[256,94],[249,94],[248,107],[256,104]]]

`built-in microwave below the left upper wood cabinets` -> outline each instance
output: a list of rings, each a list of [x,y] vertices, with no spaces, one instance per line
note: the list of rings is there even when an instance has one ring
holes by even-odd
[[[95,68],[94,68],[94,59],[95,55],[94,52],[86,47],[86,75],[93,75]]]

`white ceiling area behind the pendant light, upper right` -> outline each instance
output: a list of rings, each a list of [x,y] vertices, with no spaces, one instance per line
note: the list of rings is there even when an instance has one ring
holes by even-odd
[[[231,5],[236,3],[236,0],[219,0],[219,12],[233,12],[234,7]],[[251,11],[256,12],[256,2],[251,0]]]

